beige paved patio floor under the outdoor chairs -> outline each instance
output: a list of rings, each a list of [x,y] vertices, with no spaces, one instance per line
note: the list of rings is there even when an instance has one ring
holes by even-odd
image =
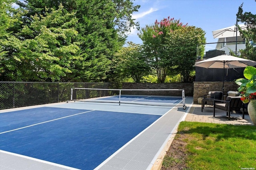
[[[232,125],[253,125],[250,116],[244,115],[242,119],[242,114],[231,114],[231,119],[228,120],[226,112],[221,109],[216,109],[215,117],[213,117],[213,106],[206,105],[203,112],[201,111],[201,104],[193,104],[188,112],[185,121],[198,121],[206,123],[222,123],[222,124],[232,124]]]

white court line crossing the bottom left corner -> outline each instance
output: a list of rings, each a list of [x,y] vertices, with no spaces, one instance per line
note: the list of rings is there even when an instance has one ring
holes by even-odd
[[[77,168],[73,168],[73,167],[70,167],[70,166],[65,166],[65,165],[62,165],[62,164],[56,164],[54,162],[49,162],[49,161],[46,161],[46,160],[42,160],[42,159],[38,159],[38,158],[33,158],[33,157],[30,157],[30,156],[25,156],[25,155],[22,155],[22,154],[16,154],[16,153],[13,153],[13,152],[8,152],[8,151],[5,151],[5,150],[0,150],[0,153],[5,153],[5,154],[10,154],[10,155],[13,155],[13,156],[18,156],[20,158],[25,158],[25,159],[29,159],[29,160],[34,160],[34,161],[37,161],[37,162],[41,162],[41,163],[44,163],[44,164],[49,164],[49,165],[53,165],[53,166],[58,166],[60,168],[66,168],[66,169],[69,169],[69,170],[79,170]]]

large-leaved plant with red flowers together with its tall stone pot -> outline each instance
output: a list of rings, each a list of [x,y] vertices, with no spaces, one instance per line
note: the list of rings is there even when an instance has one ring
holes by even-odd
[[[244,77],[237,79],[235,82],[240,86],[238,91],[241,92],[242,102],[249,103],[248,114],[256,125],[256,68],[247,66],[244,69]]]

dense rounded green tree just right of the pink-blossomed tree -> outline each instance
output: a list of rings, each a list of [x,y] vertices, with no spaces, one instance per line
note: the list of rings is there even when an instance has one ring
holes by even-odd
[[[196,50],[204,53],[204,48],[198,48],[198,44],[206,43],[205,31],[194,26],[186,26],[169,33],[168,54],[172,54],[170,60],[174,64],[171,72],[178,72],[182,82],[188,82],[190,72],[194,71]]]

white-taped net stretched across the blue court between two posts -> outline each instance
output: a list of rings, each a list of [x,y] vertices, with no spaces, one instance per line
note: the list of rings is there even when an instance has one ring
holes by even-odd
[[[185,105],[184,89],[101,89],[72,88],[71,101],[142,104],[152,106]]]

